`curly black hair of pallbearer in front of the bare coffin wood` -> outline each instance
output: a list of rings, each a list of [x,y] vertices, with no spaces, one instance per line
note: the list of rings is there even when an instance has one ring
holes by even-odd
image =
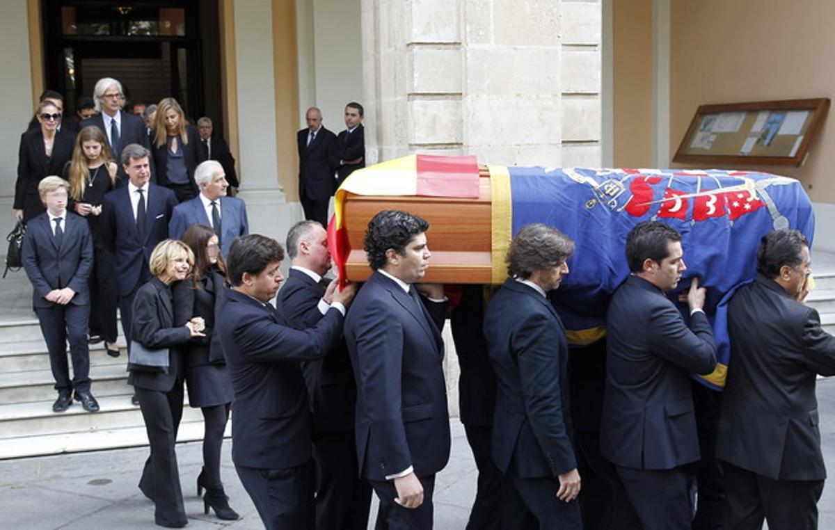
[[[368,221],[365,236],[365,251],[368,265],[372,270],[386,265],[386,251],[394,250],[406,254],[406,245],[418,234],[429,230],[429,223],[423,217],[399,209],[384,209]]]

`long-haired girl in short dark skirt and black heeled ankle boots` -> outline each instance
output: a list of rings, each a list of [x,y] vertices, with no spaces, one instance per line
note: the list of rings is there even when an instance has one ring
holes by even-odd
[[[220,519],[233,520],[238,514],[229,507],[228,497],[220,482],[220,447],[232,402],[232,381],[220,346],[220,337],[212,333],[215,310],[226,288],[226,266],[220,255],[215,230],[206,225],[191,225],[182,241],[195,255],[195,267],[190,279],[174,287],[174,322],[185,324],[197,316],[205,322],[205,336],[189,341],[185,353],[185,384],[189,390],[190,406],[203,412],[203,469],[197,477],[197,495],[206,490],[203,509],[215,510]]]

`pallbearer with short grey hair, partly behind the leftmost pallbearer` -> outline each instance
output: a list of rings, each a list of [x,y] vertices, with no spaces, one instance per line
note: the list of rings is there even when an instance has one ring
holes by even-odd
[[[290,277],[278,291],[278,308],[296,330],[316,326],[327,314],[336,280],[323,279],[331,269],[327,232],[316,221],[296,223],[287,233]],[[328,287],[328,289],[326,289]],[[313,411],[313,458],[316,462],[316,527],[365,530],[371,486],[359,477],[354,442],[357,386],[344,341],[321,361],[301,363]]]

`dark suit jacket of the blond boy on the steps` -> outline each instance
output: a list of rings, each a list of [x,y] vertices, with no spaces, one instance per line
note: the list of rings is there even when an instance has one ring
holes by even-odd
[[[67,212],[62,223],[61,245],[53,235],[49,214],[44,212],[26,225],[23,267],[34,287],[33,306],[51,307],[43,298],[53,289],[75,291],[70,304],[89,305],[87,279],[93,269],[93,236],[87,221]]]

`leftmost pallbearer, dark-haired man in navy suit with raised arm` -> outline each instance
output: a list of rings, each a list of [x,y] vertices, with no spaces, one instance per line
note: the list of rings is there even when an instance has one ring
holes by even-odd
[[[316,327],[294,330],[269,304],[284,280],[283,258],[281,245],[263,235],[235,240],[226,261],[232,288],[217,332],[235,388],[232,460],[240,482],[265,527],[310,528],[311,411],[299,361],[316,361],[337,346],[356,288],[334,292]]]

